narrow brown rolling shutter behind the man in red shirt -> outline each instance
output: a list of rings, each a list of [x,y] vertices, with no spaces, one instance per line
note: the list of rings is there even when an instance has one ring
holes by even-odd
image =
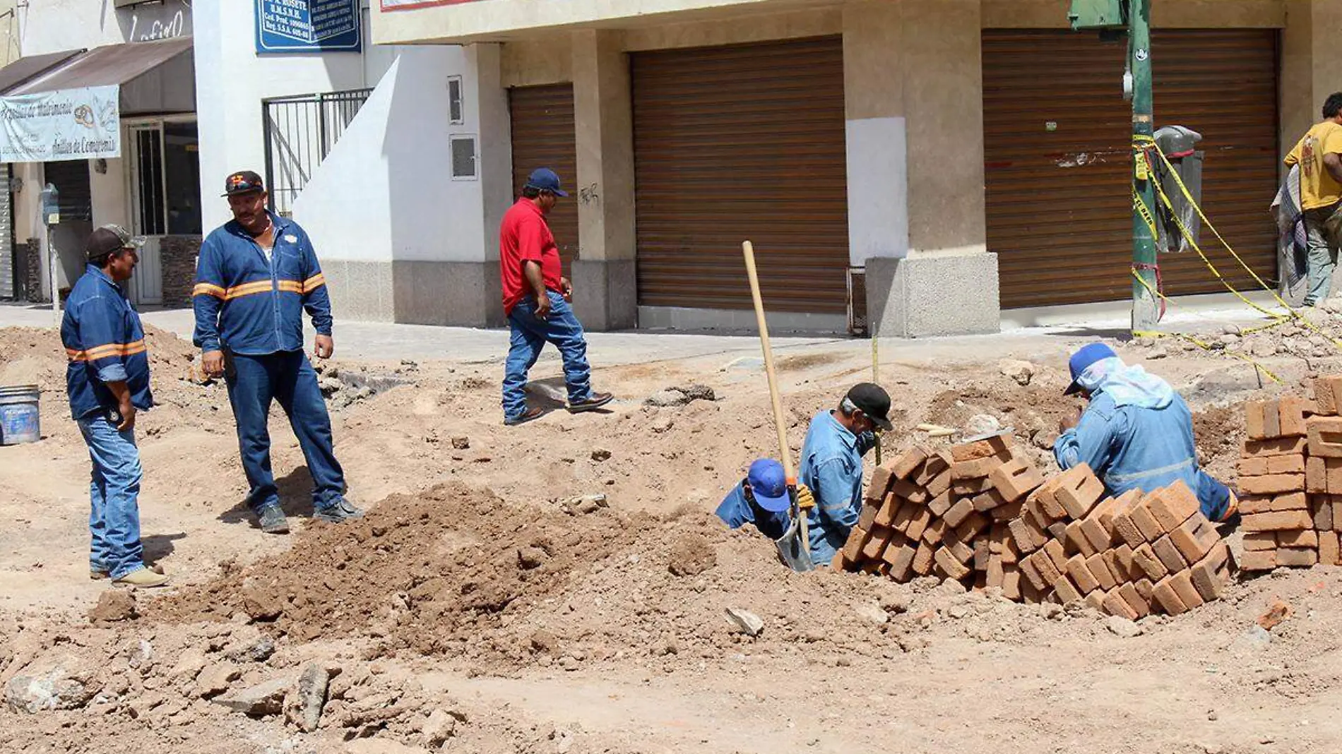
[[[537,168],[560,174],[568,199],[546,216],[564,259],[564,274],[578,252],[578,158],[573,126],[573,85],[526,86],[509,90],[513,122],[513,196]]]

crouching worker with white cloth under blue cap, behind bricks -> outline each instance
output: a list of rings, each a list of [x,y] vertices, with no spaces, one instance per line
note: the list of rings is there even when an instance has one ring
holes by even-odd
[[[1068,366],[1066,394],[1079,393],[1090,405],[1059,423],[1059,467],[1088,464],[1115,498],[1182,480],[1209,521],[1235,515],[1235,495],[1197,466],[1193,416],[1169,382],[1123,364],[1104,343],[1082,347]]]

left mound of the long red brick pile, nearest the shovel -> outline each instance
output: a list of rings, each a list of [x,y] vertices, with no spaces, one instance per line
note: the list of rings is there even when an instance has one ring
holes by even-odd
[[[1009,435],[937,452],[915,447],[872,474],[858,526],[833,566],[899,582],[938,576],[1001,586],[1019,600],[1007,523],[1043,480]]]

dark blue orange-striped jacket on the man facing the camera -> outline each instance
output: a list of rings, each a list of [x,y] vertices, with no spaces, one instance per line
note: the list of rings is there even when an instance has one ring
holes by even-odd
[[[275,224],[270,259],[236,220],[200,247],[192,339],[201,350],[247,356],[303,350],[305,309],[318,334],[331,334],[330,297],[313,241],[298,223],[270,219]]]

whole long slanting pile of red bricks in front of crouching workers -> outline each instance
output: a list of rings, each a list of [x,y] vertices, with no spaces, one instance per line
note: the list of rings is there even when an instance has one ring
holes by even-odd
[[[1182,482],[1106,498],[1086,464],[1045,482],[997,436],[878,468],[833,566],[935,574],[1025,602],[1083,600],[1137,620],[1217,598],[1229,550]]]

